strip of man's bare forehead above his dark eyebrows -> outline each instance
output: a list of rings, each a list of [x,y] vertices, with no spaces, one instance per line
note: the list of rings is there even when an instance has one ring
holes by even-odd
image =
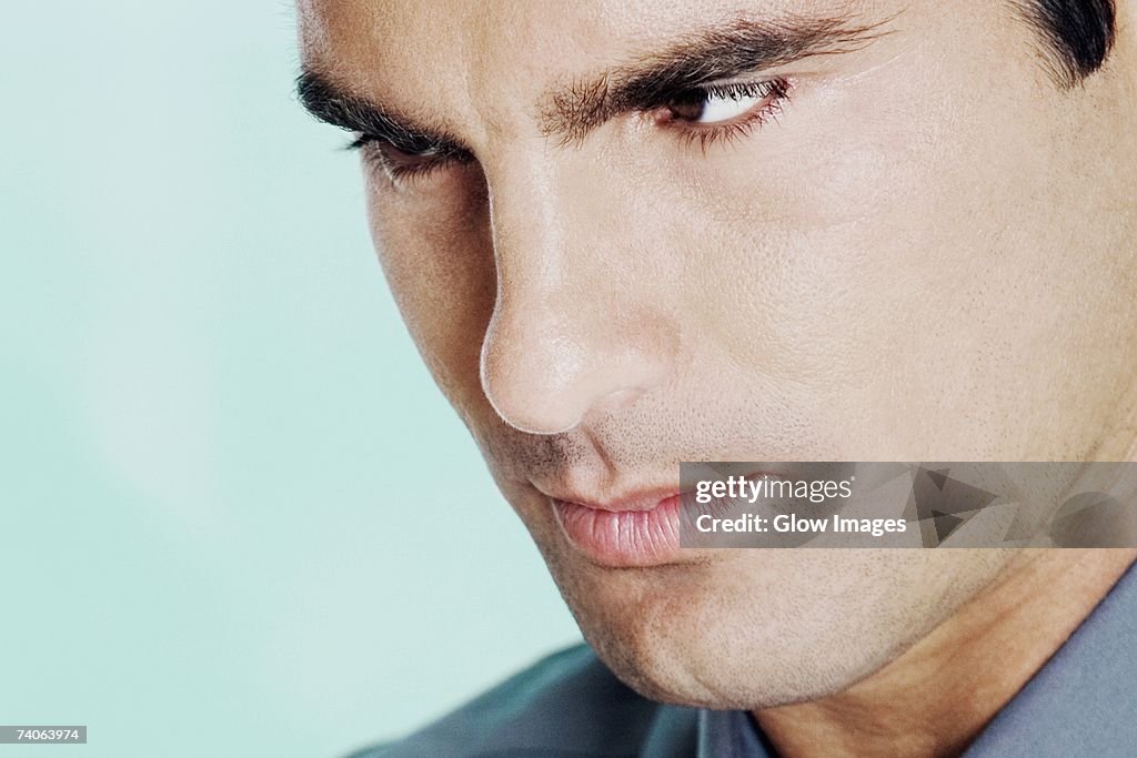
[[[620,60],[692,27],[735,17],[872,15],[895,2],[848,0],[298,0],[306,66],[384,78],[493,68],[556,75]]]

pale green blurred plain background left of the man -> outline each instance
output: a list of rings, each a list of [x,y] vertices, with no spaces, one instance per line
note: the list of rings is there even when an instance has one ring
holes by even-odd
[[[285,2],[7,2],[8,756],[335,756],[576,630],[430,383]]]

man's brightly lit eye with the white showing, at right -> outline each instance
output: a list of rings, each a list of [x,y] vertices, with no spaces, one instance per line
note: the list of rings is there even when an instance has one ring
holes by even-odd
[[[679,126],[713,127],[764,118],[788,92],[785,80],[712,84],[684,90],[665,103],[665,119]]]

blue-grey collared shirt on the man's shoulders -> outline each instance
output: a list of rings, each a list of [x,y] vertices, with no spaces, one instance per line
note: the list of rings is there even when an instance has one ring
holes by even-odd
[[[1137,756],[1137,568],[964,753]],[[749,714],[653,702],[592,651],[557,652],[399,742],[350,758],[772,758]]]

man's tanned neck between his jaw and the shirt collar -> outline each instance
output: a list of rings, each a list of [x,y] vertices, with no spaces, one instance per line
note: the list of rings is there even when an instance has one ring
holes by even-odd
[[[1135,550],[1023,550],[991,586],[845,692],[755,711],[796,756],[957,756],[1062,645]]]

